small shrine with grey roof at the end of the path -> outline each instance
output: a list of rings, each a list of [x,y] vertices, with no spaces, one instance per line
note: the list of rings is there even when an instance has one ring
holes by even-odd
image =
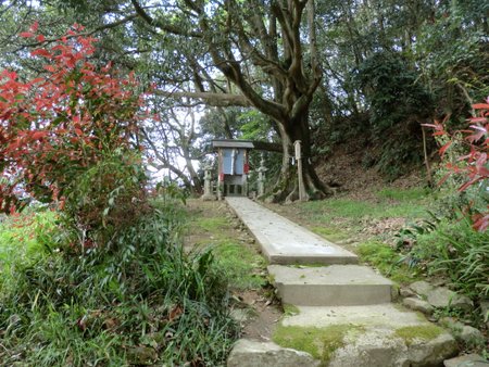
[[[249,151],[248,140],[213,140],[217,150],[217,198],[248,195]]]

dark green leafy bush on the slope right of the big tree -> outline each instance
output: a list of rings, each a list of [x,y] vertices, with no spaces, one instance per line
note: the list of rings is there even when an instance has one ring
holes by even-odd
[[[371,105],[367,134],[379,144],[377,152],[364,157],[364,164],[397,178],[405,165],[422,162],[419,121],[430,115],[430,96],[400,53],[375,53],[360,65],[355,77]]]

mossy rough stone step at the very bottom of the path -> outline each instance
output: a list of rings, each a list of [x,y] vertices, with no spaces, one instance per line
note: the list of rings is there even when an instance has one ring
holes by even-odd
[[[238,342],[228,366],[276,367],[288,358],[297,366],[441,366],[457,353],[456,341],[444,329],[393,304],[298,306],[272,339],[274,343]]]

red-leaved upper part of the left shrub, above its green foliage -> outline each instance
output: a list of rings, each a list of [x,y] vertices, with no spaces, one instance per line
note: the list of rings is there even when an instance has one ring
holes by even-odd
[[[0,208],[26,204],[26,195],[59,201],[78,175],[104,154],[129,149],[138,130],[141,100],[133,75],[120,78],[111,64],[88,62],[93,38],[75,25],[60,41],[35,49],[45,76],[21,81],[3,71],[0,80]],[[40,42],[37,24],[22,35]]]

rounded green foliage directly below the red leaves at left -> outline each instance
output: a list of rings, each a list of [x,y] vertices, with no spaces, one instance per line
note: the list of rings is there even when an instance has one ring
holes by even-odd
[[[138,155],[125,150],[105,154],[65,188],[62,212],[73,243],[112,246],[117,231],[147,210],[146,174]]]

